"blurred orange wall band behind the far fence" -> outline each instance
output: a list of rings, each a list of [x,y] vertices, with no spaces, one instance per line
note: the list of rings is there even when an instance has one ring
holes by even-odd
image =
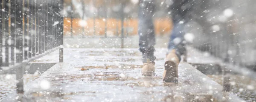
[[[79,21],[81,19],[73,19],[73,35],[79,35],[83,31],[83,27],[79,25]],[[84,26],[85,36],[92,36],[93,35],[93,19],[85,20],[87,23]],[[71,20],[70,18],[64,18],[64,35],[70,34],[70,25]],[[160,18],[154,20],[155,26],[155,33],[159,34],[166,34],[169,33],[172,29],[172,21],[168,18]],[[107,19],[107,32],[109,34],[116,35],[116,29],[118,27],[118,34],[121,33],[121,21],[118,19]],[[138,20],[137,19],[127,19],[124,22],[124,32],[127,34],[126,28],[130,29],[128,32],[129,35],[137,35],[138,32]],[[95,19],[95,29],[96,35],[104,35],[105,34],[105,21],[101,18]],[[133,29],[133,30],[131,30]]]

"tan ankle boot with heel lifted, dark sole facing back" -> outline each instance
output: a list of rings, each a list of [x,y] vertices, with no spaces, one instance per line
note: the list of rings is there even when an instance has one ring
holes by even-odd
[[[169,52],[166,56],[166,62],[164,63],[163,82],[177,83],[178,82],[178,65],[180,60],[175,53],[175,50]]]

